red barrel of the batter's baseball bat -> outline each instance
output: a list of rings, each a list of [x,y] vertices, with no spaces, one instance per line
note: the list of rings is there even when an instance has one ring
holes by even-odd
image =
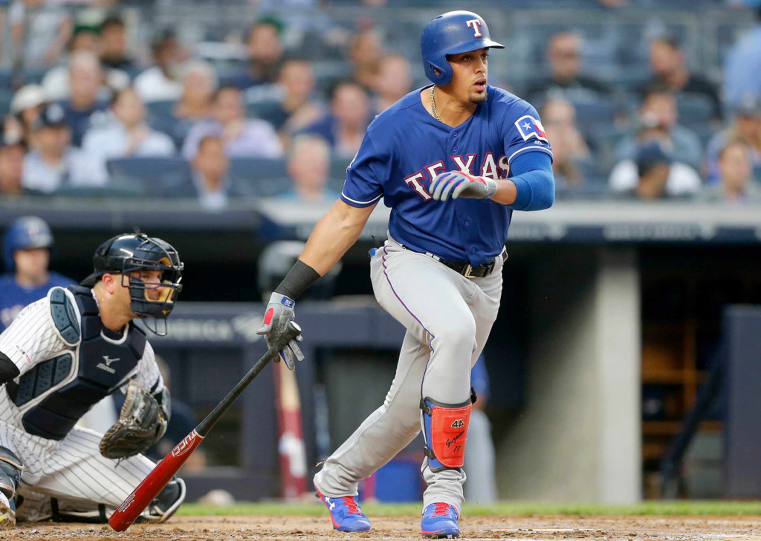
[[[117,532],[123,532],[142,513],[143,509],[158,496],[161,489],[174,477],[174,474],[183,466],[193,450],[201,443],[203,436],[196,430],[186,435],[172,452],[167,454],[160,463],[148,474],[145,479],[132,491],[126,500],[119,505],[108,519],[108,523]]]

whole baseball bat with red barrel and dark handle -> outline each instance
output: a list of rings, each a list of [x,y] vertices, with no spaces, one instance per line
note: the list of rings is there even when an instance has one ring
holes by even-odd
[[[285,333],[280,339],[272,345],[256,364],[253,365],[250,371],[243,377],[242,380],[237,382],[235,387],[225,396],[220,403],[212,409],[209,415],[206,415],[202,422],[183,438],[174,449],[167,454],[166,457],[161,459],[161,462],[156,464],[151,473],[145,476],[145,479],[137,485],[137,488],[132,491],[132,494],[116,508],[111,517],[108,519],[108,523],[117,532],[123,532],[129,525],[132,524],[135,519],[148,507],[148,504],[158,496],[158,493],[167,485],[168,482],[174,477],[174,474],[182,467],[187,458],[193,453],[193,450],[199,446],[201,440],[205,438],[206,434],[214,428],[219,418],[224,415],[224,412],[235,402],[240,393],[243,393],[244,389],[248,387],[249,383],[253,381],[259,373],[266,367],[272,358],[278,355],[278,352],[285,348],[292,339],[295,339],[301,334],[301,328],[294,322],[288,323],[288,328],[285,329]]]

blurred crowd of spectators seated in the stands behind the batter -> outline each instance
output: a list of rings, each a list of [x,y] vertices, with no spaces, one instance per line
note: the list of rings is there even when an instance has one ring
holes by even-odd
[[[589,0],[611,11],[648,1]],[[691,71],[682,44],[663,33],[647,43],[650,80],[623,88],[588,75],[573,30],[547,40],[546,75],[492,78],[539,110],[559,198],[761,202],[761,2],[701,2],[737,7],[738,18],[757,11],[723,81]],[[326,76],[283,39],[288,17],[245,29],[240,58],[202,55],[176,28],[145,20],[149,47],[132,40],[137,23],[120,5],[12,0],[0,10],[11,37],[0,72],[2,198],[151,195],[209,211],[257,197],[330,202],[374,115],[425,84],[419,51],[385,41],[372,11],[342,37],[326,29],[320,46],[345,59]]]

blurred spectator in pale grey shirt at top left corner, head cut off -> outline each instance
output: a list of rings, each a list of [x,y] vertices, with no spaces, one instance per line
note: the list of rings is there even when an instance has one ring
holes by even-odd
[[[13,0],[8,22],[14,65],[24,69],[54,65],[72,35],[72,20],[55,0]]]

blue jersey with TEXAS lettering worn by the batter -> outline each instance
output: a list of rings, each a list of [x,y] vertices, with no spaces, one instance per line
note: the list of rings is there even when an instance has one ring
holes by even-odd
[[[469,119],[452,128],[423,107],[422,89],[412,91],[376,116],[346,170],[343,202],[391,208],[389,232],[410,250],[476,266],[505,246],[511,208],[491,199],[432,199],[428,187],[444,171],[505,179],[525,152],[552,156],[537,110],[501,88]]]

